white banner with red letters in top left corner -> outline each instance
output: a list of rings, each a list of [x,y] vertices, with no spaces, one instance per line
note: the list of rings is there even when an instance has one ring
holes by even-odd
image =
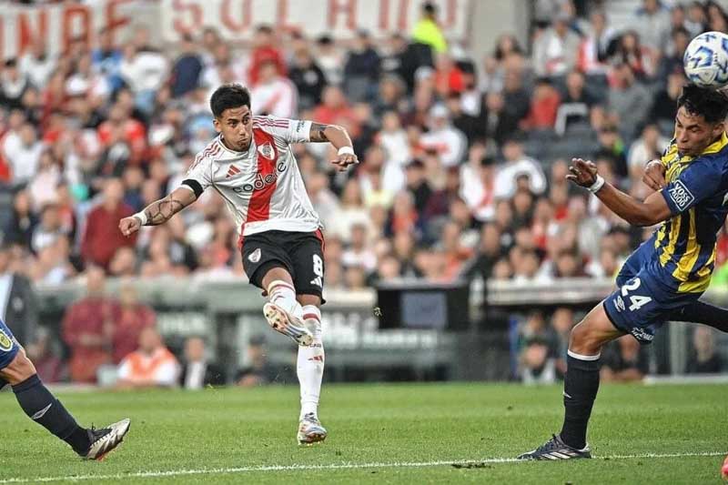
[[[96,42],[108,28],[121,43],[134,23],[142,0],[87,0],[84,3],[22,6],[3,3],[0,8],[0,59],[21,56],[36,41],[56,55],[80,38],[86,45]]]

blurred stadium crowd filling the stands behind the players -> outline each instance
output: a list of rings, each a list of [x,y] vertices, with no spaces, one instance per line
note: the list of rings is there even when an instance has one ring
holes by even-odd
[[[630,227],[571,187],[569,160],[591,157],[645,197],[642,167],[672,137],[682,53],[694,35],[728,31],[728,15],[714,2],[658,0],[642,2],[634,25],[612,25],[593,2],[537,1],[534,15],[529,45],[504,34],[483,59],[448,43],[429,4],[411,33],[386,39],[259,25],[238,48],[209,27],[170,51],[138,27],[121,44],[105,31],[93,45],[77,39],[61,56],[34,45],[0,67],[8,270],[50,284],[95,271],[244,278],[236,227],[211,191],[138,237],[117,229],[178,186],[215,136],[211,91],[238,82],[255,114],[352,136],[360,164],[349,173],[329,164],[327,145],[296,150],[326,227],[327,288],[611,277],[652,228]],[[714,284],[728,281],[727,258],[723,231]],[[561,334],[573,320],[545,325]],[[541,357],[533,349],[546,339],[531,338],[530,325],[522,360],[541,373],[559,346]]]

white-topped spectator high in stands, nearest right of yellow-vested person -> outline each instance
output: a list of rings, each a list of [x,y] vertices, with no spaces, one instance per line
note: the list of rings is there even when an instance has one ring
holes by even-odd
[[[536,76],[563,76],[576,66],[580,38],[569,28],[569,15],[553,19],[551,27],[533,42],[533,69]]]

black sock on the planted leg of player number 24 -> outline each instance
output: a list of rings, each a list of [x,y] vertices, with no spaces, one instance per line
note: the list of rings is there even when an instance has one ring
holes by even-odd
[[[591,356],[589,356],[591,357]],[[566,358],[566,376],[563,382],[563,407],[565,409],[561,440],[572,448],[586,446],[586,427],[591,416],[591,406],[599,390],[599,357],[593,360]]]

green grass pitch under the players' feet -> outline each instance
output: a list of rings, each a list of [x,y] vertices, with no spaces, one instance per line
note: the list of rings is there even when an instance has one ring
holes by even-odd
[[[65,444],[0,394],[0,483],[101,475],[101,483],[721,483],[723,456],[644,458],[728,450],[724,386],[602,386],[590,440],[601,460],[478,462],[511,458],[561,426],[561,387],[511,385],[329,385],[320,416],[329,440],[298,447],[298,389],[197,393],[79,392],[60,395],[83,423],[122,417],[132,428],[103,462],[75,458]],[[640,455],[642,458],[613,458]],[[612,457],[609,460],[605,457]],[[467,467],[450,461],[472,460]],[[372,463],[427,466],[363,467]],[[271,465],[350,464],[327,470]],[[140,471],[246,469],[167,477]],[[97,479],[86,483],[99,482]]]

